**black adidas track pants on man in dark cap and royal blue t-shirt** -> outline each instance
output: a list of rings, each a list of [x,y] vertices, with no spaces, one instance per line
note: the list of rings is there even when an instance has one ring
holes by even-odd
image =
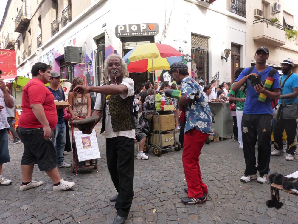
[[[271,156],[271,114],[243,114],[241,128],[243,153],[246,169],[245,175],[257,173],[268,174]],[[256,167],[255,145],[258,141],[258,165]]]

